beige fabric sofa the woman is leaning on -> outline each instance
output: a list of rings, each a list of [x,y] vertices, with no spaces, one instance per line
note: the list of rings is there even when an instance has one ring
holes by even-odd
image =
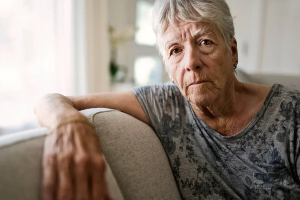
[[[297,76],[247,75],[245,82],[278,82],[300,90]],[[118,199],[181,199],[165,151],[151,127],[117,110],[83,110],[96,127],[108,163],[106,179]],[[40,195],[41,156],[48,130],[0,136],[0,199],[35,200]]]

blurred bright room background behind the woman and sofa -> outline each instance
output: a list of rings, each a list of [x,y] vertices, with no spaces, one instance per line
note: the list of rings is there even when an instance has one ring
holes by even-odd
[[[300,0],[227,2],[238,68],[300,82]],[[0,134],[38,127],[33,105],[46,93],[169,81],[151,9],[152,0],[0,0]]]

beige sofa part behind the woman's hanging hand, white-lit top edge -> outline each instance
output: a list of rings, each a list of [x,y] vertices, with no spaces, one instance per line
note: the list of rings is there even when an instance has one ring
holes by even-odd
[[[40,199],[42,149],[47,133],[47,128],[37,128],[0,136],[0,199]],[[123,200],[109,165],[105,178],[112,198]]]

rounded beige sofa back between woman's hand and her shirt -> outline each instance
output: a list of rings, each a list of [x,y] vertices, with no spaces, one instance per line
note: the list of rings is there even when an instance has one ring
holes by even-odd
[[[168,158],[150,126],[117,110],[87,109],[125,199],[181,199]],[[91,115],[89,113],[92,113]]]

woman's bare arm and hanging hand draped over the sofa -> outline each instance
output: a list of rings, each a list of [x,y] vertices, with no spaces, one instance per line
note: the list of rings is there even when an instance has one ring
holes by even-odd
[[[53,128],[61,121],[77,121],[54,128],[45,138],[42,199],[111,199],[106,188],[99,139],[78,111],[93,107],[118,109],[148,123],[132,91],[41,97],[34,106],[41,126]]]

